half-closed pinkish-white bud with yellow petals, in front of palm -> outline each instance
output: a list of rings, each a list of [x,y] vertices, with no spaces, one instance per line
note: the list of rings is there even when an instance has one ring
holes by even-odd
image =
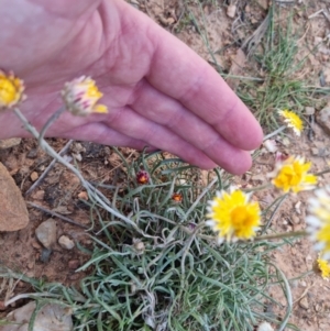
[[[80,117],[95,112],[107,113],[108,108],[105,104],[97,104],[102,96],[95,80],[85,76],[66,82],[62,91],[67,110]]]

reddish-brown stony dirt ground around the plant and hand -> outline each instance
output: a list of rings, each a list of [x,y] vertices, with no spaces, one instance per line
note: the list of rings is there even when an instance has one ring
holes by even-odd
[[[237,16],[233,19],[228,16],[227,2],[230,1],[218,0],[218,5],[215,5],[217,1],[200,2],[205,18],[204,33],[208,36],[209,47],[213,49],[215,57],[210,56],[205,40],[198,33],[196,26],[184,21],[187,8],[185,8],[182,1],[131,1],[132,5],[144,11],[163,27],[177,35],[211,65],[215,65],[215,62],[217,62],[218,65],[233,75],[244,75],[246,57],[243,54],[243,60],[241,60],[242,51],[240,47],[246,36],[253,33],[265,18],[268,1],[232,1],[238,5],[241,20],[244,14],[244,20],[249,23],[245,24],[245,30],[239,26],[241,21]],[[301,40],[299,40],[301,45],[305,41],[315,44],[317,38],[323,38],[328,35],[330,23],[326,16],[319,15],[317,20],[308,20],[309,15],[320,9],[326,9],[327,1],[302,0],[280,2],[284,9],[292,10],[294,8],[296,29],[304,27]],[[191,8],[195,15],[200,13],[197,5],[193,5]],[[224,52],[217,52],[217,49],[223,48],[226,48]],[[304,56],[304,54],[306,54],[306,48],[301,46],[299,56]],[[308,77],[310,79],[315,77],[315,80],[319,84],[318,75],[322,71],[324,73],[326,84],[329,84],[330,75],[329,82],[327,77],[328,73],[330,74],[329,55],[330,51],[328,52],[328,48],[319,49],[316,54],[308,54],[308,62],[304,69],[301,69],[300,78]],[[229,82],[235,88],[235,81]],[[314,104],[310,106],[312,107]],[[327,146],[329,146],[330,139],[318,125],[315,125],[315,136],[312,140],[308,139],[306,132],[304,132],[300,139],[288,134],[285,139],[275,136],[274,140],[279,152],[292,155],[304,155],[310,159],[314,164],[312,172],[323,170],[328,165],[330,147]],[[56,151],[59,151],[66,143],[64,140],[50,140],[50,142]],[[87,179],[98,183],[103,181],[108,185],[116,185],[117,180],[119,180],[120,174],[118,174],[118,167],[120,166],[120,159],[109,147],[91,143],[74,142],[66,154],[69,157],[76,158]],[[128,158],[136,156],[136,153],[132,150],[124,150],[124,154]],[[266,184],[268,180],[266,174],[273,169],[274,157],[274,153],[263,150],[262,155],[256,158],[251,173],[238,178],[237,184],[244,187]],[[0,162],[4,164],[13,176],[23,195],[33,185],[35,174],[37,177],[41,176],[51,161],[51,157],[42,152],[32,140],[23,140],[20,145],[13,148],[0,151]],[[329,175],[322,176],[320,178],[320,186],[326,185],[329,180]],[[272,227],[282,231],[305,229],[306,201],[310,195],[310,192],[304,192],[286,199],[279,212],[273,219]],[[266,207],[278,194],[266,191],[256,196],[260,198],[262,207]],[[57,238],[65,234],[81,245],[90,247],[92,242],[84,229],[84,227],[88,228],[91,224],[89,207],[81,202],[81,199],[84,200],[86,194],[81,189],[78,179],[64,169],[63,166],[55,164],[43,183],[31,195],[25,197],[30,213],[29,227],[18,232],[0,233],[1,261],[13,269],[19,269],[31,277],[44,277],[50,282],[61,282],[67,285],[77,284],[81,277],[88,274],[88,271],[86,273],[75,273],[75,269],[84,264],[89,258],[89,255],[84,254],[77,247],[73,251],[64,251],[59,245],[56,245],[50,258],[44,257],[42,245],[35,238],[35,229],[42,221],[50,218],[50,214],[32,207],[29,202],[76,220],[82,227],[77,227],[55,218],[57,222]],[[311,271],[317,256],[310,243],[307,240],[300,239],[292,246],[287,245],[274,252],[272,257],[289,279]],[[295,304],[290,322],[298,326],[302,331],[330,330],[329,283],[323,280],[319,275],[310,273],[302,279],[292,282],[292,290]],[[29,287],[20,282],[13,288],[11,296],[24,291],[29,291]],[[2,299],[6,293],[0,287]],[[284,299],[277,297],[275,289],[272,291],[272,295],[282,301],[284,306],[286,305]],[[276,313],[284,315],[284,311],[285,309],[276,311]]]

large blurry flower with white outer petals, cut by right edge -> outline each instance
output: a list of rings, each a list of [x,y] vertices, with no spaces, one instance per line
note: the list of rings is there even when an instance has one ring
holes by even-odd
[[[323,258],[330,258],[330,187],[316,190],[316,197],[308,201],[307,232],[322,251]]]

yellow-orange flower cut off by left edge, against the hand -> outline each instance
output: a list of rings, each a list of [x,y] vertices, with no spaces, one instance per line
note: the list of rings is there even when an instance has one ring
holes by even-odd
[[[25,99],[23,91],[23,80],[11,71],[6,74],[0,70],[0,110],[12,108],[23,101]]]

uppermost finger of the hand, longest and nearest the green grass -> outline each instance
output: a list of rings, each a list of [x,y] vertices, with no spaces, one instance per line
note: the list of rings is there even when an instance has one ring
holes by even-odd
[[[129,7],[127,10],[134,11]],[[144,14],[134,12],[134,16],[154,46],[146,75],[150,84],[177,99],[234,146],[256,148],[263,139],[261,126],[220,75],[187,45]]]

